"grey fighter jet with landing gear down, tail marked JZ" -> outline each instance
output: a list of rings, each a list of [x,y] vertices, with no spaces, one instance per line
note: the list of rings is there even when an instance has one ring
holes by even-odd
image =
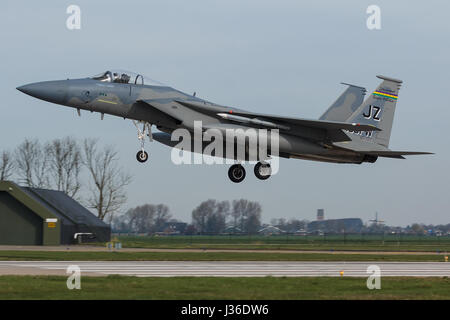
[[[80,110],[89,110],[101,113],[101,119],[105,113],[131,119],[141,142],[136,155],[139,162],[148,159],[144,149],[146,136],[150,141],[154,139],[177,147],[171,134],[181,128],[192,132],[198,121],[202,123],[202,130],[277,130],[278,156],[283,158],[361,164],[374,163],[379,157],[404,159],[405,155],[430,154],[388,148],[402,81],[377,77],[382,82],[367,98],[365,88],[344,83],[348,86],[346,90],[318,120],[257,113],[216,104],[197,97],[195,93],[187,94],[141,74],[122,70],[106,71],[82,79],[31,83],[17,89],[38,99],[76,108],[78,115]],[[152,126],[156,126],[159,132],[152,133]],[[254,167],[256,177],[261,180],[272,174],[271,145],[270,141],[265,143],[269,146],[268,152],[257,156]],[[245,157],[252,151],[248,147],[246,145]],[[228,154],[222,157],[226,158]],[[234,153],[232,158],[235,162],[229,168],[228,176],[238,183],[246,175],[242,165],[245,159]]]

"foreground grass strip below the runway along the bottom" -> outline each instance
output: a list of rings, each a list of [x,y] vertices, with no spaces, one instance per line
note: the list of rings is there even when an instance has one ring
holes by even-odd
[[[0,299],[450,299],[448,278],[136,278],[83,277],[68,290],[66,277],[0,276]]]

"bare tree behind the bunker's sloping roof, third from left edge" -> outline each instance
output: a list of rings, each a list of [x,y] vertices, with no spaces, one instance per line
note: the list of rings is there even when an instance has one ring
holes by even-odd
[[[71,138],[55,139],[45,147],[52,186],[74,198],[80,190],[81,151]]]

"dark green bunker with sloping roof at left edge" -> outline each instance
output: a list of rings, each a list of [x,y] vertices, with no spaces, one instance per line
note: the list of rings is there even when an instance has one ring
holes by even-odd
[[[109,241],[111,229],[64,192],[0,181],[0,245]]]

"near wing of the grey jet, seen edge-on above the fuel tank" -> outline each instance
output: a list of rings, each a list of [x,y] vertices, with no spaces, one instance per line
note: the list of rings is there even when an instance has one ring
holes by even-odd
[[[251,124],[259,127],[264,127],[268,129],[281,129],[285,131],[293,130],[295,127],[306,127],[319,129],[324,131],[380,131],[379,128],[373,125],[359,124],[359,123],[348,123],[348,122],[338,122],[338,121],[325,121],[325,120],[309,120],[302,118],[292,118],[268,115],[262,113],[247,112],[232,108],[219,107],[207,105],[199,102],[188,102],[188,101],[176,101],[186,107],[193,110],[204,112],[210,115],[214,115],[217,118],[222,118],[231,122],[238,122],[242,124]],[[336,133],[336,132],[334,132]],[[345,141],[342,134],[334,134],[332,136],[337,137],[335,141]]]

